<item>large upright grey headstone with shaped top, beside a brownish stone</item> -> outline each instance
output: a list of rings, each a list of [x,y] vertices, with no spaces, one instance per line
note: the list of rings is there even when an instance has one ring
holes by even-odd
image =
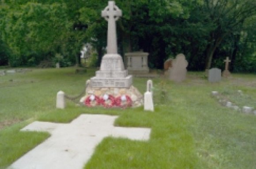
[[[187,76],[188,61],[184,54],[178,54],[172,62],[172,67],[169,68],[169,79],[175,82],[181,82]]]

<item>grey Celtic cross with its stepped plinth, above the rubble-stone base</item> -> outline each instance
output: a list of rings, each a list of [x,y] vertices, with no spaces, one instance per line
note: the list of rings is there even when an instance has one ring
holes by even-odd
[[[122,11],[109,1],[109,5],[102,11],[102,17],[108,22],[107,54],[102,58],[100,70],[91,78],[91,86],[94,88],[129,88],[132,85],[132,76],[124,70],[124,63],[117,54],[116,21],[122,15]]]

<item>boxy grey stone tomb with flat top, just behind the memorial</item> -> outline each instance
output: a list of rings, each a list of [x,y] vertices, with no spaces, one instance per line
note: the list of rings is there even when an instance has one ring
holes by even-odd
[[[127,58],[127,70],[131,74],[147,74],[148,68],[148,53],[147,52],[130,52],[124,54]]]

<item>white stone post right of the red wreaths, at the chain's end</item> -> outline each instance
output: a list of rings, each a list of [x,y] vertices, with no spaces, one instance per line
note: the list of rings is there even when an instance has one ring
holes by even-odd
[[[152,85],[152,80],[148,80],[147,91],[144,93],[144,110],[154,111]]]

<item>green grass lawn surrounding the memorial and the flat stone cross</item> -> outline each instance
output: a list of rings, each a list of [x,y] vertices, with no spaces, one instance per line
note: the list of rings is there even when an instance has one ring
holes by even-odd
[[[75,74],[74,68],[33,69],[0,76],[0,169],[49,137],[19,132],[34,120],[70,122],[81,113],[120,115],[116,126],[150,127],[147,142],[105,138],[85,169],[255,169],[256,116],[222,107],[211,91],[242,90],[256,98],[256,75],[235,74],[208,83],[202,72],[189,72],[182,83],[153,79],[155,111],[143,107],[86,108],[67,101],[57,110],[56,93],[78,95],[95,70]],[[146,78],[134,78],[141,93]],[[256,107],[256,104],[254,104]]]

